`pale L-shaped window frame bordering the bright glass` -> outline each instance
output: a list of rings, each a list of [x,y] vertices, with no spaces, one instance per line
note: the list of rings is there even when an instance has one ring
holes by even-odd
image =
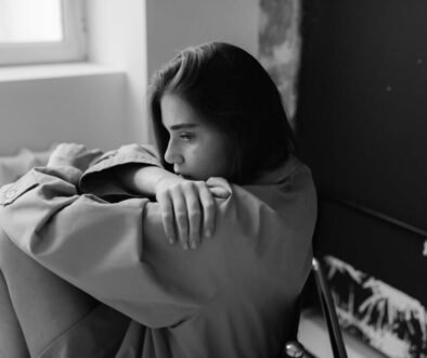
[[[86,12],[82,0],[61,0],[64,39],[61,42],[0,43],[0,66],[83,61]]]

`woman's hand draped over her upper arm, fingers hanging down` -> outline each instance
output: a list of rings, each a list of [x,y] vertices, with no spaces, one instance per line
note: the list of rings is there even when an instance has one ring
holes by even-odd
[[[208,180],[209,182],[209,180]],[[155,186],[160,205],[165,234],[172,244],[179,239],[184,250],[195,250],[204,235],[210,238],[215,230],[216,197],[229,197],[230,192],[212,180],[193,181],[165,177]]]

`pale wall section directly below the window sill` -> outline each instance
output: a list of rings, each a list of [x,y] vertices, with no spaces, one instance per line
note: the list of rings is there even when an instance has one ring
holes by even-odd
[[[5,72],[7,69],[2,69]],[[124,138],[120,74],[0,81],[0,155],[75,141],[102,149]]]

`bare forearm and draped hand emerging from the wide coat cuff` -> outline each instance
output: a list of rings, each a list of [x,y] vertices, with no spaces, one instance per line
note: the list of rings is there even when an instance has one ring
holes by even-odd
[[[126,166],[115,174],[128,190],[155,195],[169,243],[178,239],[184,250],[195,250],[203,235],[214,234],[214,196],[227,199],[230,195],[215,181],[186,180],[156,166]]]

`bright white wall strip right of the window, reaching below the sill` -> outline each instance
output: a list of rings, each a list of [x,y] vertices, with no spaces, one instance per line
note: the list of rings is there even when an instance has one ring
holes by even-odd
[[[126,74],[125,116],[117,118],[125,142],[148,142],[144,0],[88,0],[89,61]]]

